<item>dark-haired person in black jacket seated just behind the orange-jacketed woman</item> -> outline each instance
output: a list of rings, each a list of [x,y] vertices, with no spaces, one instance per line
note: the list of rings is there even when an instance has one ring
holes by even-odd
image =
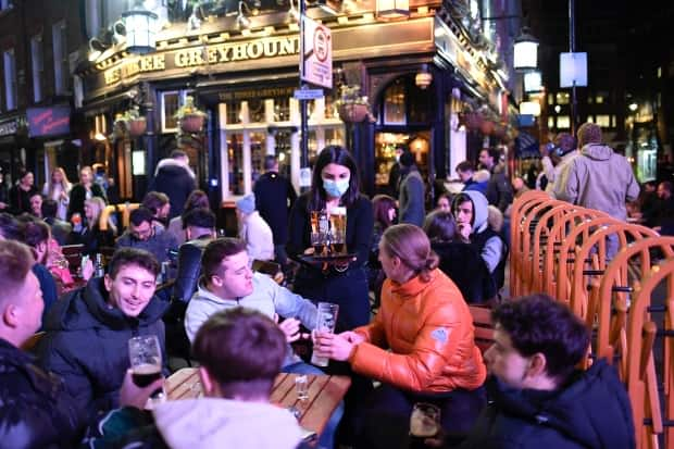
[[[424,232],[430,240],[430,248],[440,258],[438,267],[457,284],[465,302],[492,303],[497,296],[496,283],[475,248],[457,236],[451,212],[430,212],[426,215]]]

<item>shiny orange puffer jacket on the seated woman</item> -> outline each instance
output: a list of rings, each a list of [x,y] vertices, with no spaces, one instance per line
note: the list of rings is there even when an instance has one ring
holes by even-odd
[[[398,388],[442,392],[483,385],[487,369],[475,346],[473,317],[454,283],[439,270],[400,285],[386,279],[374,321],[349,362],[359,374]],[[390,348],[391,351],[387,351]]]

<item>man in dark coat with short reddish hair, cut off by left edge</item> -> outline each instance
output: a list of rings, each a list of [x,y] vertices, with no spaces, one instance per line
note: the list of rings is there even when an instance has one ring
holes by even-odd
[[[40,327],[42,298],[30,250],[0,240],[0,446],[73,448],[82,431],[74,402],[58,376],[20,347]]]

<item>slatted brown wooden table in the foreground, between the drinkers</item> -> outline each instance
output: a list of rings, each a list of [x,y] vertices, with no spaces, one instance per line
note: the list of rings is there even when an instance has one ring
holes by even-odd
[[[271,402],[288,408],[295,407],[301,413],[302,427],[321,435],[328,419],[346,395],[351,379],[347,376],[307,374],[309,399],[300,401],[295,390],[295,378],[299,374],[280,373],[272,388]],[[184,367],[166,379],[168,400],[191,399],[203,396],[198,369]]]

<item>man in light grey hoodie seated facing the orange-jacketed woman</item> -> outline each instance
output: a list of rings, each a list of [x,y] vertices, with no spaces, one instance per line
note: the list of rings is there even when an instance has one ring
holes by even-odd
[[[246,242],[236,238],[211,241],[201,258],[202,280],[187,305],[185,330],[195,340],[201,325],[214,313],[247,307],[274,319],[285,317],[278,327],[289,342],[300,338],[300,323],[308,329],[316,324],[316,307],[308,299],[295,295],[276,284],[270,276],[253,273],[246,251]],[[287,345],[283,364],[285,373],[323,374],[315,366],[303,363]],[[340,406],[330,416],[319,441],[320,447],[332,448],[334,432],[341,419]]]

